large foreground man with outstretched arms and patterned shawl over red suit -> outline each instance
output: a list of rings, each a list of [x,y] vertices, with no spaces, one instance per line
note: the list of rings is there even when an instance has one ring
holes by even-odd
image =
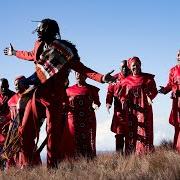
[[[114,81],[115,78],[110,73],[103,76],[84,66],[80,62],[75,46],[69,41],[61,40],[59,26],[55,20],[43,19],[35,32],[38,34],[38,40],[35,42],[32,51],[16,51],[11,45],[11,47],[5,48],[4,54],[15,55],[20,59],[34,61],[35,63],[36,74],[32,79],[36,82],[38,79],[41,83],[35,90],[31,102],[26,106],[25,115],[22,120],[24,123],[19,128],[19,132],[24,138],[24,142],[33,142],[30,138],[35,139],[38,137],[39,126],[37,121],[42,110],[36,103],[40,102],[46,110],[47,166],[51,168],[57,167],[58,163],[58,147],[62,138],[64,119],[62,109],[66,97],[64,84],[67,81],[69,69],[80,72],[101,83]],[[28,134],[31,134],[31,137]],[[31,151],[33,149],[35,147],[32,144],[27,144],[24,147],[26,159],[31,158]]]

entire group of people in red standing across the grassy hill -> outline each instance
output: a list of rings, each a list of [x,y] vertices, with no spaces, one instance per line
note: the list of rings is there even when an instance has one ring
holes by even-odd
[[[96,156],[94,111],[101,103],[99,88],[87,84],[86,78],[109,83],[106,106],[109,111],[114,102],[111,130],[116,134],[116,150],[121,154],[152,152],[152,100],[158,90],[154,75],[142,72],[140,59],[123,60],[120,73],[102,75],[80,62],[76,47],[61,39],[55,20],[43,19],[34,32],[38,40],[32,51],[15,50],[12,45],[4,49],[5,55],[35,64],[35,73],[30,77],[22,75],[15,79],[16,93],[9,90],[7,79],[0,79],[1,154],[7,155],[9,149],[11,154],[6,165],[21,168],[40,165],[40,151],[44,145],[47,145],[48,168],[57,168],[63,159],[79,156],[92,159]],[[168,85],[161,87],[159,92],[172,91],[170,123],[175,126],[174,147],[180,151],[179,67],[178,64],[171,70]],[[71,69],[75,71],[76,84],[69,87]],[[44,120],[47,137],[37,148]],[[13,128],[17,129],[17,138],[10,141],[15,137],[14,134],[11,137]]]

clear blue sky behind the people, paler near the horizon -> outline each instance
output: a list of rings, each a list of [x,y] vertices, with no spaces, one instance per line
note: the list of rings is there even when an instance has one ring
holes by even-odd
[[[14,89],[15,76],[34,71],[32,62],[6,57],[3,49],[11,42],[15,49],[31,50],[36,39],[32,31],[37,26],[31,20],[52,18],[60,25],[62,39],[76,44],[82,62],[92,69],[118,72],[121,60],[138,56],[143,71],[156,75],[157,86],[165,85],[180,48],[179,7],[178,0],[1,0],[0,77],[7,78]],[[107,85],[88,82],[101,89],[97,149],[114,150],[113,111],[109,115],[105,108]],[[155,144],[163,138],[173,139],[169,97],[158,95],[154,100]]]

